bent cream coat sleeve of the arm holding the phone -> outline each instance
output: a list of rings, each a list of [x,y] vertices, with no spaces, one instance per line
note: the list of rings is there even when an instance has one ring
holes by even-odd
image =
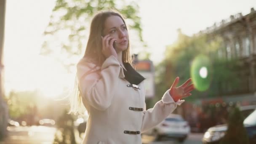
[[[101,66],[99,74],[90,72],[86,62],[77,64],[78,85],[83,99],[98,110],[106,110],[112,101],[118,83],[120,64],[114,56],[109,56]]]

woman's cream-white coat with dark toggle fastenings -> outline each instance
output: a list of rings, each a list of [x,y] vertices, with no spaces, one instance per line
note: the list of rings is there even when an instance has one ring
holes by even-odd
[[[123,71],[114,56],[101,67],[84,58],[77,64],[78,85],[89,115],[83,144],[141,144],[141,132],[162,122],[184,102],[174,102],[168,90],[146,110],[144,81],[131,86]]]

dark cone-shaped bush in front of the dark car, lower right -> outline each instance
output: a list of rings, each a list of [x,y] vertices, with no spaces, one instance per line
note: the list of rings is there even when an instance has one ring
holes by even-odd
[[[227,133],[221,144],[249,144],[249,138],[243,127],[244,117],[238,107],[229,115]]]

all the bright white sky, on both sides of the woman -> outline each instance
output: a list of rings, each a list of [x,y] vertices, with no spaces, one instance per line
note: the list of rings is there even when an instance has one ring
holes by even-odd
[[[5,91],[40,90],[46,96],[72,85],[69,75],[53,58],[39,56],[43,32],[55,0],[6,0]],[[143,38],[157,64],[166,45],[176,40],[177,29],[192,35],[230,15],[256,9],[256,0],[137,0]],[[133,48],[136,51],[136,48]]]

